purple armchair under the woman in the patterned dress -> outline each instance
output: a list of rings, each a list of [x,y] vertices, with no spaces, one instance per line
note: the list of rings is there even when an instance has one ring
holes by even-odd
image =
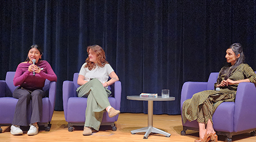
[[[218,73],[210,73],[208,82],[185,82],[181,90],[180,109],[183,102],[203,90],[213,90]],[[254,83],[242,82],[238,85],[235,102],[223,102],[213,114],[213,128],[217,135],[225,135],[226,141],[232,141],[232,135],[256,131],[256,87]],[[183,124],[181,135],[186,130],[199,131],[197,121]]]

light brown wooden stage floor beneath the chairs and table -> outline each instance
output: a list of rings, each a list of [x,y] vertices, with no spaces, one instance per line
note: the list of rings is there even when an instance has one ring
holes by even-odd
[[[180,115],[154,115],[153,126],[160,130],[171,133],[170,137],[160,134],[152,134],[148,139],[143,139],[144,133],[131,134],[130,131],[138,128],[147,127],[147,114],[119,114],[116,122],[117,131],[112,131],[111,127],[101,126],[100,131],[93,132],[90,136],[82,136],[82,127],[75,127],[73,132],[68,132],[67,122],[65,122],[63,111],[54,111],[52,118],[51,130],[39,131],[38,135],[28,136],[26,132],[20,136],[14,136],[10,133],[10,127],[2,127],[3,133],[0,133],[1,142],[17,142],[17,141],[195,141],[198,139],[197,131],[187,131],[186,136],[181,136],[182,130]],[[256,137],[250,137],[250,133],[233,136],[236,142],[256,142]],[[225,141],[225,136],[218,136],[218,141]]]

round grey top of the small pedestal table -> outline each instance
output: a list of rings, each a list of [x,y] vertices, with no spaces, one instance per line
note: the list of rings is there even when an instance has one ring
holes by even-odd
[[[158,98],[153,98],[153,97],[139,97],[139,95],[128,95],[126,98],[130,100],[136,100],[136,101],[175,101],[175,97],[162,98],[162,96],[158,96]]]

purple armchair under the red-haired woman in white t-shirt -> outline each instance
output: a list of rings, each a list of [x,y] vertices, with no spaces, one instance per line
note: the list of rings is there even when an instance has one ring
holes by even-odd
[[[87,106],[87,98],[77,97],[76,89],[79,87],[77,84],[77,78],[79,73],[74,73],[73,81],[63,82],[63,108],[65,120],[68,122],[68,131],[74,130],[73,126],[84,126],[85,122],[85,110]],[[117,81],[113,85],[109,86],[109,90],[112,91],[112,96],[109,97],[109,102],[116,110],[120,110],[121,103],[121,82]],[[118,119],[118,115],[113,118],[109,118],[108,113],[104,112],[101,126],[111,126],[113,131],[117,130],[115,122]]]

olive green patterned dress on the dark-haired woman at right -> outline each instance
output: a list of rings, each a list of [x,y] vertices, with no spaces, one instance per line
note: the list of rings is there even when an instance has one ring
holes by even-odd
[[[225,75],[218,76],[218,79],[221,79],[222,81],[224,80],[224,77]],[[244,80],[246,78],[248,78],[250,82],[256,83],[256,74],[247,64],[238,65],[237,68],[234,69],[229,76],[229,79],[233,81]],[[216,88],[216,86],[217,83],[214,84],[214,88]],[[199,123],[207,124],[209,119],[212,122],[212,116],[216,108],[222,102],[234,102],[236,98],[237,87],[238,84],[234,84],[221,87],[220,91],[205,90],[193,94],[191,99],[187,99],[183,103],[183,123],[187,122],[187,120],[189,122],[197,120]]]

